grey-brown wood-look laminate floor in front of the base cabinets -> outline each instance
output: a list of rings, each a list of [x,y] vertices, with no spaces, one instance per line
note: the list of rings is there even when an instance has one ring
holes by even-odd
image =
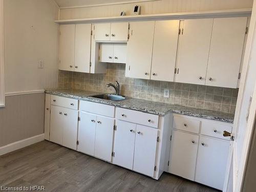
[[[218,191],[164,173],[150,177],[42,141],[0,156],[0,186],[44,185],[45,191]]]

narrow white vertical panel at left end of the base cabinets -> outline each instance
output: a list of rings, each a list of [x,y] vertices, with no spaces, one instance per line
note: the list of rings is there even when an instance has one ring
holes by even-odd
[[[51,95],[46,94],[45,99],[45,139],[50,139]]]

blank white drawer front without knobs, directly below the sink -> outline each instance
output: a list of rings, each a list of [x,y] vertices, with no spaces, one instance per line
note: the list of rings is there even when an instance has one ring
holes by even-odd
[[[114,117],[115,114],[115,106],[91,101],[80,101],[79,110],[107,117]]]

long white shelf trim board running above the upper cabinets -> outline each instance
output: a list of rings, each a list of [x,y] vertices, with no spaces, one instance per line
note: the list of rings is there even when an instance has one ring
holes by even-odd
[[[212,18],[212,17],[250,16],[251,10],[252,9],[229,9],[229,10],[217,10],[217,11],[125,15],[125,16],[111,16],[111,17],[62,19],[62,20],[55,20],[54,22],[58,24],[71,24],[71,23],[77,24],[77,23],[94,23],[94,22],[142,20],[142,19],[187,19],[187,18],[202,18],[202,17]]]

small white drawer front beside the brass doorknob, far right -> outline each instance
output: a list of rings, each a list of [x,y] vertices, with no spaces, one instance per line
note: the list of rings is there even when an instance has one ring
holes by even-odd
[[[224,131],[231,133],[232,124],[229,124],[229,123],[225,124],[225,123],[220,123],[216,121],[207,121],[207,120],[202,121],[202,129],[201,129],[202,135],[229,140],[230,139],[229,137],[223,136]]]

